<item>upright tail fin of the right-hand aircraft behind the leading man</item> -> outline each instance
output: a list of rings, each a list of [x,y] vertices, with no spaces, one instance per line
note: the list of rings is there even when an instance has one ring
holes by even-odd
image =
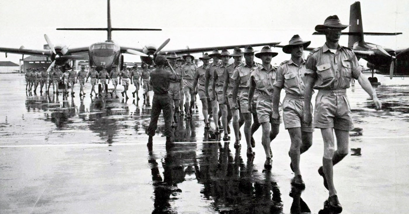
[[[364,42],[364,29],[362,27],[361,3],[351,4],[349,11],[348,47],[353,48],[356,42]]]

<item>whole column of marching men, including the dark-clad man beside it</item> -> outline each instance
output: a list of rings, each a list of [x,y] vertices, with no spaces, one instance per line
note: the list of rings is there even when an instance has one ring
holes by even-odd
[[[153,136],[157,129],[157,120],[163,111],[165,122],[166,146],[173,145],[172,128],[177,127],[178,121],[191,120],[192,108],[196,107],[196,95],[202,103],[204,127],[208,131],[214,125],[214,134],[222,132],[223,140],[230,140],[230,122],[233,126],[234,147],[241,147],[242,134],[240,127],[244,125],[247,158],[253,160],[253,148],[261,144],[265,154],[265,169],[272,168],[271,142],[279,133],[279,126],[284,123],[291,139],[290,169],[294,172],[291,184],[305,188],[300,169],[300,155],[312,145],[313,128],[321,129],[324,140],[323,165],[318,173],[328,189],[326,204],[335,213],[342,212],[333,183],[333,165],[339,163],[348,154],[349,131],[353,129],[351,109],[346,89],[350,87],[351,78],[358,80],[363,89],[371,96],[376,109],[382,105],[376,96],[375,90],[362,74],[362,67],[348,47],[338,44],[341,31],[348,27],[342,25],[339,18],[329,16],[323,25],[317,25],[315,30],[326,35],[326,42],[322,47],[310,52],[307,60],[303,59],[303,51],[310,45],[310,41],[303,41],[299,35],[294,35],[288,45],[283,47],[290,59],[281,62],[278,68],[272,66],[272,58],[278,53],[265,46],[260,51],[247,46],[242,51],[236,47],[230,54],[226,49],[220,52],[214,50],[211,54],[203,54],[199,59],[203,65],[196,67],[194,57],[186,54],[182,57],[171,53],[167,57],[159,55],[155,60],[155,69],[149,69],[142,64],[123,70],[114,66],[110,74],[106,68],[96,71],[92,66],[88,74],[85,66],[76,73],[73,68],[51,68],[47,73],[45,67],[27,69],[25,79],[26,91],[36,90],[40,85],[40,93],[48,94],[53,85],[53,93],[58,94],[58,85],[64,85],[63,94],[68,95],[68,86],[71,87],[71,96],[74,97],[74,84],[79,82],[79,96],[85,96],[83,86],[91,80],[92,92],[95,96],[108,96],[106,80],[112,80],[114,89],[110,92],[113,98],[119,98],[117,85],[123,86],[121,95],[128,99],[128,87],[135,85],[132,96],[137,96],[142,86],[144,105],[150,105],[148,91],[153,89],[151,121],[146,130],[148,147],[153,146]],[[234,62],[229,64],[230,58]],[[244,62],[242,59],[244,57]],[[254,57],[261,60],[261,64],[254,62]],[[212,60],[209,63],[209,60]],[[119,80],[118,80],[119,78]],[[85,80],[86,79],[86,80]],[[47,81],[48,80],[48,81]],[[96,91],[95,85],[101,81],[101,92]],[[122,84],[121,84],[122,82]],[[47,85],[48,83],[48,85]],[[281,89],[285,90],[283,103],[280,103]],[[314,90],[318,90],[315,111],[313,113],[311,97]],[[134,100],[135,102],[135,100]],[[185,114],[185,115],[184,115]],[[312,117],[314,115],[314,117]],[[213,125],[210,123],[213,118]],[[261,142],[253,138],[254,132],[262,127]],[[337,149],[335,150],[335,138]]]

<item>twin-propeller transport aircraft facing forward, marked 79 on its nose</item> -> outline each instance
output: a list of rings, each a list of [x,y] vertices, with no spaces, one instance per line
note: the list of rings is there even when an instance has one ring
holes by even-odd
[[[153,64],[153,58],[157,54],[168,54],[171,52],[176,52],[176,54],[190,54],[190,53],[200,53],[205,51],[212,51],[214,49],[233,49],[234,47],[245,47],[251,45],[256,46],[274,46],[280,42],[269,42],[269,43],[260,43],[260,44],[245,44],[245,45],[230,45],[230,46],[218,46],[218,47],[205,47],[205,48],[194,48],[194,49],[178,49],[178,50],[167,50],[161,51],[162,48],[168,44],[170,39],[167,39],[162,43],[158,48],[155,45],[145,45],[143,48],[134,48],[134,47],[123,47],[119,46],[117,43],[113,42],[111,39],[112,31],[160,31],[161,29],[141,29],[141,28],[113,28],[111,27],[111,17],[110,17],[110,0],[108,0],[108,27],[107,28],[57,28],[57,30],[80,30],[80,31],[107,31],[108,36],[105,42],[98,42],[90,45],[89,47],[80,47],[80,48],[68,48],[67,46],[55,46],[52,44],[51,40],[47,35],[44,35],[47,44],[50,47],[48,49],[25,49],[21,48],[6,48],[0,47],[0,52],[5,52],[6,57],[7,53],[13,54],[27,54],[27,55],[36,55],[36,56],[47,56],[52,64],[49,68],[54,65],[68,65],[69,62],[73,59],[80,59],[81,56],[75,54],[87,53],[89,56],[89,65],[96,66],[96,70],[100,71],[103,68],[106,68],[109,71],[113,65],[121,67],[123,65],[123,55],[134,54],[141,57],[142,62],[145,62],[149,65]],[[122,69],[122,68],[121,68]]]

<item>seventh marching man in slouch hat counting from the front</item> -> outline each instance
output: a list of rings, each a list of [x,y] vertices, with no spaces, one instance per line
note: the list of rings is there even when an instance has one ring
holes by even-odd
[[[210,95],[213,94],[214,70],[216,69],[216,67],[218,67],[220,65],[220,61],[219,61],[220,53],[219,53],[218,50],[213,50],[213,52],[211,54],[209,54],[209,57],[211,57],[213,59],[213,62],[206,68],[205,92],[206,92],[206,96],[209,98],[209,100],[211,102],[211,109],[212,109],[213,120],[214,120],[214,125],[215,125],[215,133],[219,134],[220,130],[219,130],[219,125],[218,125],[218,121],[219,121],[218,102],[217,102],[216,96],[210,96]]]

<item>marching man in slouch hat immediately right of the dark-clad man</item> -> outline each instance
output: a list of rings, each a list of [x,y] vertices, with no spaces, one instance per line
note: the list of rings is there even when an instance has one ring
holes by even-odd
[[[183,70],[182,67],[176,64],[176,60],[179,57],[176,53],[172,53],[170,56],[166,57],[169,60],[169,65],[172,67],[166,67],[165,69],[171,71],[172,69],[175,71],[176,80],[171,80],[169,84],[169,91],[168,94],[171,98],[171,120],[172,120],[172,127],[176,127],[175,123],[178,123],[178,116],[179,116],[179,108],[180,108],[180,93],[183,91]]]

